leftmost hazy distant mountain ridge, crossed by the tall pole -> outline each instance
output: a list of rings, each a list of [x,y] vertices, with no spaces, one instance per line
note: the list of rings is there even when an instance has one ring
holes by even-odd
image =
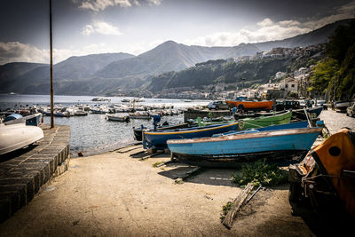
[[[122,52],[70,57],[53,66],[53,81],[54,83],[63,83],[87,80],[94,72],[106,67],[111,62],[133,57],[135,56],[132,54]],[[3,71],[4,73],[2,73]],[[0,66],[0,74],[9,75],[7,79],[0,77],[2,92],[33,94],[49,91],[49,87],[46,88],[50,82],[48,64],[8,63]],[[60,93],[63,92],[65,91],[60,91]]]

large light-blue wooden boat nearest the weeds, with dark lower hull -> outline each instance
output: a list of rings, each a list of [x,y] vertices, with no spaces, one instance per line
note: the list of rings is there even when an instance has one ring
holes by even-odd
[[[290,123],[292,124],[292,123]],[[291,159],[309,151],[322,128],[243,130],[212,138],[170,139],[167,144],[178,161],[203,167],[240,167],[241,162]],[[301,125],[300,125],[301,126]],[[273,128],[272,128],[273,127]]]

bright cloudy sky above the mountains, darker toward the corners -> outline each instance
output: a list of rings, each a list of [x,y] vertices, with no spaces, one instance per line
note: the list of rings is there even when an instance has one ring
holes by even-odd
[[[0,1],[0,65],[49,63],[49,3]],[[355,0],[52,0],[53,60],[280,40],[354,17]]]

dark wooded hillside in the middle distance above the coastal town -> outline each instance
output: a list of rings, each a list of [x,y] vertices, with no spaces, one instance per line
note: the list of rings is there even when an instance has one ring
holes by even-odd
[[[285,71],[292,59],[256,59],[240,62],[227,62],[223,59],[209,60],[198,63],[178,72],[168,72],[155,75],[146,89],[161,91],[162,89],[185,87],[200,87],[216,83],[239,83],[242,87],[253,83],[267,83],[272,75]],[[246,81],[241,81],[241,78]],[[252,83],[253,82],[253,83]],[[236,86],[236,85],[235,85]],[[229,90],[235,89],[229,87]]]

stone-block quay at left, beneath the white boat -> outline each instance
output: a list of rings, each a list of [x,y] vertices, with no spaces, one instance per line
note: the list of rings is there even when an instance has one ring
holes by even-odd
[[[69,157],[70,127],[42,129],[34,145],[0,156],[0,223],[26,206]]]

